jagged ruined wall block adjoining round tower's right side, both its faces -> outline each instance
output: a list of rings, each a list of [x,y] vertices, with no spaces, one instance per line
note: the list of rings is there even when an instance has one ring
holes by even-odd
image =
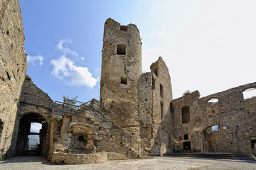
[[[169,109],[172,100],[171,77],[161,57],[151,64],[150,69],[150,74],[142,76],[141,82],[144,81],[144,84],[141,83],[139,89],[139,93],[142,94],[139,96],[140,101],[146,106],[139,114],[141,135],[147,135],[146,138],[142,137],[142,148],[144,147],[144,151],[148,154],[163,155],[171,152],[169,145],[172,128]],[[144,93],[144,91],[148,92]],[[149,107],[150,111],[147,110]]]

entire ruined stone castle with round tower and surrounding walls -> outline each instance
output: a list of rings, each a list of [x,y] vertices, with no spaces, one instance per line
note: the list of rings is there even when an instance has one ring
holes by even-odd
[[[0,1],[0,157],[34,153],[50,162],[90,164],[169,153],[256,154],[256,82],[200,98],[172,98],[164,60],[142,73],[142,42],[134,24],[105,21],[100,101],[53,101],[26,75],[18,1]],[[213,100],[215,99],[215,100]],[[214,102],[211,102],[214,101]],[[41,123],[39,133],[31,123]]]

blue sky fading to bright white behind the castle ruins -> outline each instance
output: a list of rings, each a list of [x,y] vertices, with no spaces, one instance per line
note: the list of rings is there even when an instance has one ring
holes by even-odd
[[[27,74],[53,100],[99,99],[107,18],[134,23],[142,70],[163,57],[174,98],[201,96],[255,82],[256,1],[20,0]]]

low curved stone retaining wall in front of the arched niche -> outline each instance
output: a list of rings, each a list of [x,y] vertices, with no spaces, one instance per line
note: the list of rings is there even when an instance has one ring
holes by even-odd
[[[107,154],[66,154],[53,152],[51,162],[55,164],[97,164],[107,162]]]

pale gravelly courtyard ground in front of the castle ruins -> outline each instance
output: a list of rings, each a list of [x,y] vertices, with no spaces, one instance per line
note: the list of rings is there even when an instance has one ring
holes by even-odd
[[[154,159],[134,159],[110,161],[103,164],[60,165],[50,164],[44,157],[14,157],[0,162],[1,170],[30,169],[250,169],[256,170],[256,161],[202,159],[189,157],[155,157]]]

